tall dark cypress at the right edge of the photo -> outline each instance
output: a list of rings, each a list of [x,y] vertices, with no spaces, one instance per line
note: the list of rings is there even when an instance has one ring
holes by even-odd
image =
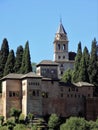
[[[95,38],[92,41],[91,57],[88,71],[90,83],[98,86],[97,41]]]

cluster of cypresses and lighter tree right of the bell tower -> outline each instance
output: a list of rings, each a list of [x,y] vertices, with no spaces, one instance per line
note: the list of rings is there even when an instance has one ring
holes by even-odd
[[[97,41],[92,41],[91,52],[84,47],[82,52],[81,42],[78,44],[73,70],[67,70],[63,77],[64,82],[89,82],[98,86],[98,48]]]

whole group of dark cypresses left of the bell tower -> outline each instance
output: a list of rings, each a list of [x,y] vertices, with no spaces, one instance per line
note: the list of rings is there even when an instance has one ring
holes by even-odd
[[[9,51],[9,45],[4,38],[0,49],[0,79],[9,73],[28,73],[32,71],[30,59],[29,42],[25,44],[25,48],[21,45],[17,47],[16,54],[13,49]],[[1,92],[1,81],[0,81]]]

